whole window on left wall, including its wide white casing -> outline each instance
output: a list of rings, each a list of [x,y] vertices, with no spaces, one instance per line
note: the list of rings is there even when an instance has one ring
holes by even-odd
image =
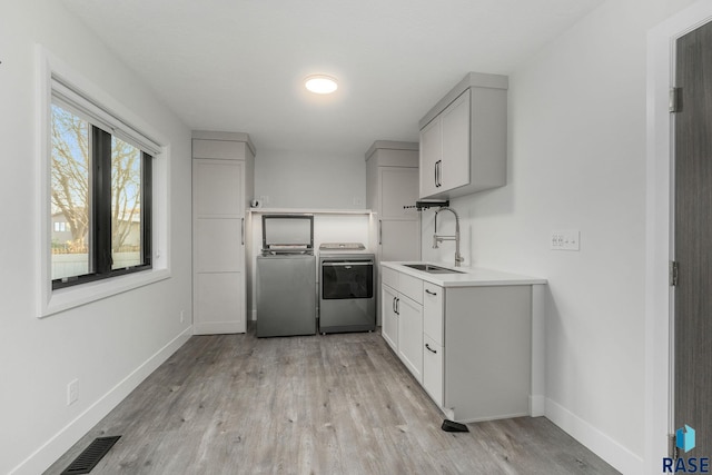
[[[170,278],[164,132],[175,129],[145,121],[166,117],[150,101],[137,116],[126,106],[130,91],[117,100],[46,48],[36,52],[37,310],[44,318]]]

